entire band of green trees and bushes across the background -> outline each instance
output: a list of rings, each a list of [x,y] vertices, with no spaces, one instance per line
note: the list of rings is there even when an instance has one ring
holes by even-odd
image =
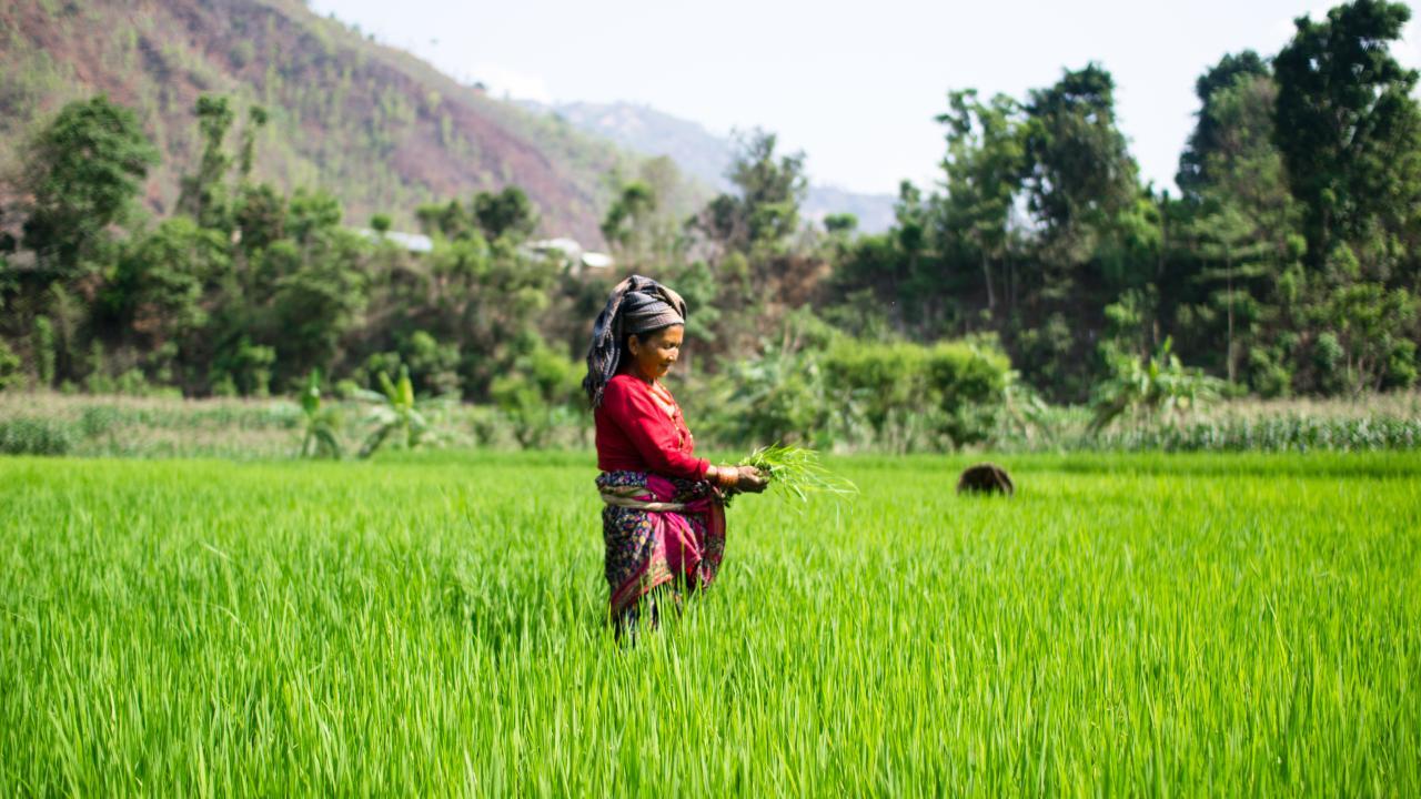
[[[608,287],[641,272],[692,307],[679,371],[723,439],[961,444],[990,424],[969,407],[1007,391],[1108,411],[1123,391],[1194,394],[1198,370],[1268,397],[1410,387],[1421,112],[1387,48],[1408,16],[1357,0],[1272,58],[1209,68],[1179,196],[1141,185],[1090,64],[1023,98],[951,92],[941,185],[904,183],[884,235],[801,219],[804,156],[770,134],[742,139],[735,191],[691,219],[675,169],[648,162],[603,215],[612,270],[530,249],[516,186],[419,208],[429,252],[385,215],[348,227],[328,193],[253,178],[267,114],[222,97],[195,109],[175,213],[151,219],[142,125],[75,102],[0,209],[0,384],[264,395],[406,371],[419,395],[549,419],[577,405]],[[1128,388],[1140,375],[1164,388]]]

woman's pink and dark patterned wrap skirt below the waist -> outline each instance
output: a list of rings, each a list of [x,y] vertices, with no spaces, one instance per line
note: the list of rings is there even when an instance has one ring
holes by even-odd
[[[709,482],[604,472],[597,489],[607,502],[604,572],[614,620],[664,583],[693,591],[715,580],[725,554],[725,506]]]

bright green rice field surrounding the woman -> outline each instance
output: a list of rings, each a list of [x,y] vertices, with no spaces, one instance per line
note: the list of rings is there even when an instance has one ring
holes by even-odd
[[[1421,795],[1421,454],[969,462],[624,647],[590,455],[0,458],[0,796]]]

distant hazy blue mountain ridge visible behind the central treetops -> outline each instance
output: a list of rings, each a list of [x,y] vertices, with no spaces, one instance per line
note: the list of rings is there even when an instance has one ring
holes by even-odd
[[[668,155],[682,171],[713,191],[729,189],[725,172],[735,158],[735,142],[703,125],[631,102],[526,105],[554,119],[567,119],[573,127],[605,136],[632,152]],[[858,218],[860,230],[878,233],[892,225],[895,199],[892,195],[865,195],[811,183],[804,198],[804,215],[823,219],[828,213],[848,212]]]

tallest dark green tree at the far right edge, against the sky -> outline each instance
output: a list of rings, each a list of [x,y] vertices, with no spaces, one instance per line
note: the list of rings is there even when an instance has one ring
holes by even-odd
[[[1300,17],[1273,61],[1277,145],[1304,208],[1314,270],[1356,262],[1387,279],[1405,257],[1400,239],[1421,200],[1421,112],[1411,97],[1417,73],[1388,43],[1410,18],[1407,6],[1385,0],[1339,6],[1317,23]]]

